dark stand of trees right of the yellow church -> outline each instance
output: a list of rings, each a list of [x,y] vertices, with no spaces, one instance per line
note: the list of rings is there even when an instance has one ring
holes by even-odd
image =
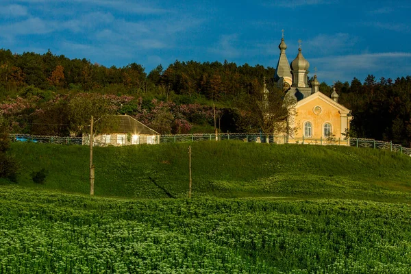
[[[411,77],[379,82],[369,75],[361,83],[354,78],[336,83],[340,103],[352,110],[352,133],[358,137],[392,140],[411,145]]]

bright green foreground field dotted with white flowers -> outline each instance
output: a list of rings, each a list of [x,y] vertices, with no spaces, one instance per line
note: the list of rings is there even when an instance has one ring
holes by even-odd
[[[411,206],[0,186],[0,273],[410,273]]]

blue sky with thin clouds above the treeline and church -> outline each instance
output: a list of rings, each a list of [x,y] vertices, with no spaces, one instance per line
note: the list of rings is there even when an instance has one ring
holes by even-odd
[[[0,0],[0,48],[147,73],[175,60],[275,67],[284,29],[288,60],[301,39],[309,75],[363,82],[411,75],[409,14],[408,1]]]

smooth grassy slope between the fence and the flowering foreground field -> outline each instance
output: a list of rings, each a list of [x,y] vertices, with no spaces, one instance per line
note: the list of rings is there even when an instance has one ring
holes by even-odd
[[[192,146],[193,197],[411,201],[411,158],[406,155],[238,141],[96,147],[95,194],[186,197],[188,145]],[[21,162],[18,186],[89,192],[88,147],[13,143],[12,152]],[[35,184],[32,173],[42,168],[47,170],[45,184]]]

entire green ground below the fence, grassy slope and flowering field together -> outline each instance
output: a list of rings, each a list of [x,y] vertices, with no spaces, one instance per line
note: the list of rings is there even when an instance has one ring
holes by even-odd
[[[97,147],[89,197],[88,147],[14,143],[12,153],[21,171],[0,185],[0,273],[411,273],[406,155],[232,141]]]

